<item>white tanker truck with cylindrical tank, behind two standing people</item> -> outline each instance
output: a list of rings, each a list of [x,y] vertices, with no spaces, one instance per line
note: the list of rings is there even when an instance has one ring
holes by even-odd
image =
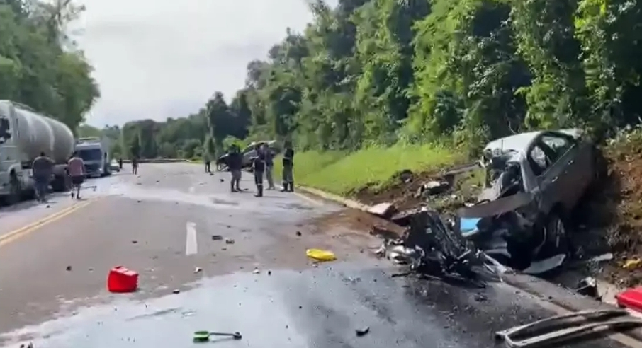
[[[64,123],[0,100],[0,198],[11,204],[33,193],[31,163],[40,152],[55,162],[53,190],[67,190],[67,160],[74,145],[74,134]]]

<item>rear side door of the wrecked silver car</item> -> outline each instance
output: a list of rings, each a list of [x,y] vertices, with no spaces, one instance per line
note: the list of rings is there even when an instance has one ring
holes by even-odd
[[[547,132],[541,136],[541,146],[551,158],[552,167],[551,180],[560,182],[562,195],[558,202],[564,204],[566,211],[575,207],[582,196],[582,158],[580,158],[580,149],[578,141],[567,134],[556,132]]]

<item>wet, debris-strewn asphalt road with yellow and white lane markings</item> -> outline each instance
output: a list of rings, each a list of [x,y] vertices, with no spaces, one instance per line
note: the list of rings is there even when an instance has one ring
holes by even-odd
[[[506,284],[391,277],[353,215],[292,193],[258,199],[251,184],[246,175],[250,190],[231,193],[225,173],[143,164],[138,176],[90,180],[81,202],[0,211],[0,344],[191,347],[209,330],[242,332],[220,347],[495,347],[495,330],[554,314]],[[315,267],[306,248],[339,260]],[[136,294],[106,291],[116,265],[140,273]]]

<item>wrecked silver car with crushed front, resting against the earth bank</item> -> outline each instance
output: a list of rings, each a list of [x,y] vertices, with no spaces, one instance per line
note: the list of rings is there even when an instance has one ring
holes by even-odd
[[[604,173],[595,144],[580,129],[515,134],[486,145],[480,163],[485,188],[457,214],[463,236],[517,269],[570,255],[570,214]]]

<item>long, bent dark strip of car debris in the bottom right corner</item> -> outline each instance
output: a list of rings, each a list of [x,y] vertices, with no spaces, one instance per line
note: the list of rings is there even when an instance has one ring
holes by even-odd
[[[590,310],[556,315],[495,332],[495,338],[507,347],[527,348],[546,344],[561,344],[565,340],[597,332],[638,327],[642,320],[627,317],[625,310]],[[619,317],[619,318],[618,318]]]

